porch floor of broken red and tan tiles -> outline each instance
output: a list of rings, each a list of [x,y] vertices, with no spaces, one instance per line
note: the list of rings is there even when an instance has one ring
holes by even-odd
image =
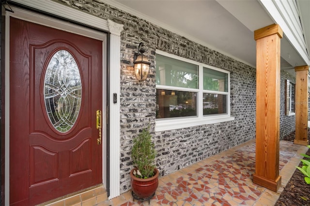
[[[148,201],[133,200],[131,191],[111,200],[93,193],[87,201],[74,206],[273,206],[295,166],[308,147],[280,141],[279,169],[282,185],[278,192],[253,184],[255,173],[255,139],[197,162],[170,175],[160,177],[155,196]],[[67,202],[68,203],[68,202]],[[71,202],[72,204],[72,202]],[[50,206],[67,206],[65,200]]]

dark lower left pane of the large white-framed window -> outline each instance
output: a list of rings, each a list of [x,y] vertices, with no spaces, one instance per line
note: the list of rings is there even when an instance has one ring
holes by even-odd
[[[156,89],[156,118],[197,116],[197,93]]]

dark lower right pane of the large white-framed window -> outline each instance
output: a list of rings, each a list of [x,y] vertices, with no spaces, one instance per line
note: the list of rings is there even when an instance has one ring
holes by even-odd
[[[203,115],[227,114],[227,95],[203,93]]]

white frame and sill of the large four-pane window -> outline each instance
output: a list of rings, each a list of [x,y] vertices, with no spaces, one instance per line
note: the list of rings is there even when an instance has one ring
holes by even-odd
[[[199,126],[199,125],[204,125],[204,124],[215,124],[215,123],[234,120],[234,117],[231,116],[231,108],[230,108],[230,72],[213,67],[213,66],[209,66],[203,63],[199,63],[199,62],[196,62],[190,59],[185,59],[185,58],[182,58],[176,55],[172,55],[167,52],[160,51],[160,50],[156,50],[156,54],[198,65],[199,66],[198,74],[200,78],[199,78],[199,89],[177,88],[177,87],[171,87],[171,86],[156,85],[155,87],[156,89],[170,89],[170,90],[197,92],[198,93],[198,97],[197,97],[198,107],[197,107],[197,117],[156,119],[155,132],[181,129],[181,128]],[[228,74],[228,92],[203,90],[203,67]],[[215,93],[215,94],[227,95],[227,114],[203,116],[203,112],[202,112],[203,111],[203,102],[202,102],[203,93]]]

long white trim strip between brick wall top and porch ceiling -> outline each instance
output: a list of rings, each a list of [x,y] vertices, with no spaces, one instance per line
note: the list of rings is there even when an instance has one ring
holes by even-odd
[[[174,32],[176,34],[184,36],[184,37],[186,37],[187,39],[189,39],[191,41],[194,41],[194,42],[196,42],[198,44],[201,44],[201,45],[206,46],[206,47],[208,47],[210,49],[213,49],[213,50],[215,50],[215,51],[217,51],[217,52],[219,52],[219,53],[221,53],[223,55],[226,55],[227,57],[233,58],[233,59],[235,59],[237,61],[240,61],[240,62],[242,62],[244,64],[247,64],[248,66],[256,68],[255,65],[252,65],[252,64],[250,64],[247,61],[244,61],[242,59],[236,58],[235,56],[233,56],[231,54],[228,54],[228,53],[226,53],[226,52],[224,52],[224,51],[222,51],[220,49],[217,49],[217,48],[207,44],[206,42],[201,41],[200,39],[197,39],[197,38],[195,38],[195,37],[193,37],[193,36],[183,32],[183,31],[175,29],[175,28],[173,28],[173,27],[171,27],[171,26],[169,26],[169,25],[167,25],[167,24],[165,24],[165,23],[163,23],[161,21],[158,21],[158,20],[156,20],[156,19],[154,19],[154,18],[152,18],[152,17],[150,17],[148,15],[144,15],[144,14],[140,13],[139,11],[134,10],[134,9],[132,9],[130,7],[127,7],[124,4],[121,4],[121,3],[119,3],[119,2],[117,2],[115,0],[100,0],[100,1],[103,2],[103,3],[109,4],[109,5],[113,6],[113,7],[116,7],[118,9],[120,9],[120,10],[123,10],[124,12],[127,12],[129,14],[136,15],[136,16],[138,16],[138,17],[140,17],[142,19],[145,19],[145,20],[147,20],[147,21],[149,21],[149,22],[151,22],[151,23],[153,23],[153,24],[155,24],[155,25],[157,25],[159,27],[162,27],[162,28],[167,29],[169,31],[172,31],[172,32]],[[253,36],[254,36],[254,34],[253,34]]]

